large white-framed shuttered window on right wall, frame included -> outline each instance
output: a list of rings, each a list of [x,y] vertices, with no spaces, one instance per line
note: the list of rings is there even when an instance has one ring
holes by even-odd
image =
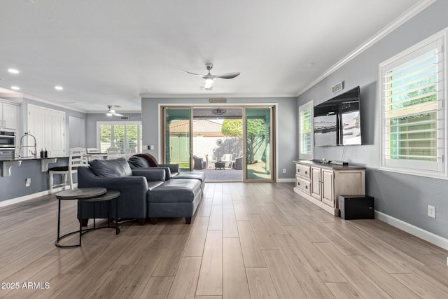
[[[385,169],[446,176],[445,39],[432,36],[380,64]]]

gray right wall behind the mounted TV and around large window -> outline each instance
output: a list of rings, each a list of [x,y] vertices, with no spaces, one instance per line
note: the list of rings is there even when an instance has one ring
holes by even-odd
[[[344,90],[361,89],[363,146],[346,146],[344,160],[367,167],[367,194],[375,197],[375,209],[423,230],[448,238],[448,181],[380,171],[379,168],[379,63],[448,27],[448,1],[436,1],[405,22],[374,46],[365,50],[330,76],[298,97],[297,105],[314,99],[330,99],[331,86],[345,81]],[[445,78],[447,80],[447,78]],[[341,160],[344,147],[316,147],[314,158]],[[298,156],[298,155],[297,155]],[[437,218],[427,216],[427,206],[436,207]]]

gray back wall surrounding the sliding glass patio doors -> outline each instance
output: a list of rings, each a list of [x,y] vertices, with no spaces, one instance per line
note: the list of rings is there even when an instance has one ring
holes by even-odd
[[[277,172],[279,179],[292,179],[295,176],[293,160],[296,159],[297,153],[297,103],[293,97],[244,97],[244,98],[227,98],[226,104],[249,104],[249,103],[272,103],[278,104],[277,111]],[[141,99],[141,116],[143,125],[143,144],[155,145],[154,151],[148,151],[155,156],[159,156],[160,148],[160,132],[159,130],[159,104],[179,104],[192,105],[209,104],[207,98],[143,98]],[[211,105],[211,104],[210,104]],[[213,105],[211,105],[213,106]],[[218,106],[218,105],[216,105]],[[223,105],[221,105],[223,106]],[[286,168],[286,174],[281,169]],[[280,171],[279,171],[280,169]]]

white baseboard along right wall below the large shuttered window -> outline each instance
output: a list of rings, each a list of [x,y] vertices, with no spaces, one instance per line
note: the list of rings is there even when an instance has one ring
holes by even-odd
[[[433,234],[433,232],[422,230],[421,228],[418,228],[415,225],[409,224],[405,221],[401,221],[400,219],[397,218],[393,218],[392,216],[388,216],[387,214],[381,213],[380,211],[375,211],[375,218],[385,223],[388,223],[394,226],[395,228],[404,230],[405,232],[408,232],[411,235],[419,237],[420,239],[424,239],[425,241],[428,241],[434,245],[442,247],[445,250],[448,250],[448,239],[435,235]]]

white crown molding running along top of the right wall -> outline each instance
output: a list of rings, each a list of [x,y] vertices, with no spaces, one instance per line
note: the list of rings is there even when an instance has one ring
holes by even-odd
[[[430,6],[431,4],[433,4],[435,1],[437,1],[437,0],[421,0],[421,1],[419,1],[419,3],[417,3],[414,6],[412,6],[411,8],[409,8],[407,11],[405,11],[405,13],[402,13],[402,15],[400,15],[398,18],[396,18],[391,23],[389,23],[386,27],[384,27],[379,32],[377,32],[377,34],[374,34],[374,36],[372,36],[370,39],[365,41],[365,43],[361,44],[358,48],[356,48],[351,53],[349,53],[349,55],[346,55],[344,58],[342,58],[342,60],[339,60],[339,62],[334,64],[332,67],[330,67],[330,69],[323,72],[321,74],[321,76],[318,76],[316,79],[314,79],[314,81],[312,81],[311,83],[309,83],[309,85],[307,85],[305,88],[300,90],[300,92],[298,92],[297,95],[295,95],[295,96],[298,97],[298,96],[302,95],[302,93],[309,90],[309,88],[312,88],[314,85],[321,82],[324,78],[326,78],[327,76],[330,76],[330,74],[337,71],[337,69],[344,66],[344,64],[346,64],[347,62],[353,60],[353,58],[360,55],[360,53],[363,53],[365,50],[367,50],[368,48],[373,46],[375,43],[380,41],[382,38],[384,38],[384,36],[387,36],[388,34],[393,32],[393,30],[395,30],[398,27],[400,27],[401,25],[403,25],[405,22],[407,22],[408,20],[413,18],[415,15],[417,15],[418,13],[423,11],[423,9],[425,9],[428,6]]]

